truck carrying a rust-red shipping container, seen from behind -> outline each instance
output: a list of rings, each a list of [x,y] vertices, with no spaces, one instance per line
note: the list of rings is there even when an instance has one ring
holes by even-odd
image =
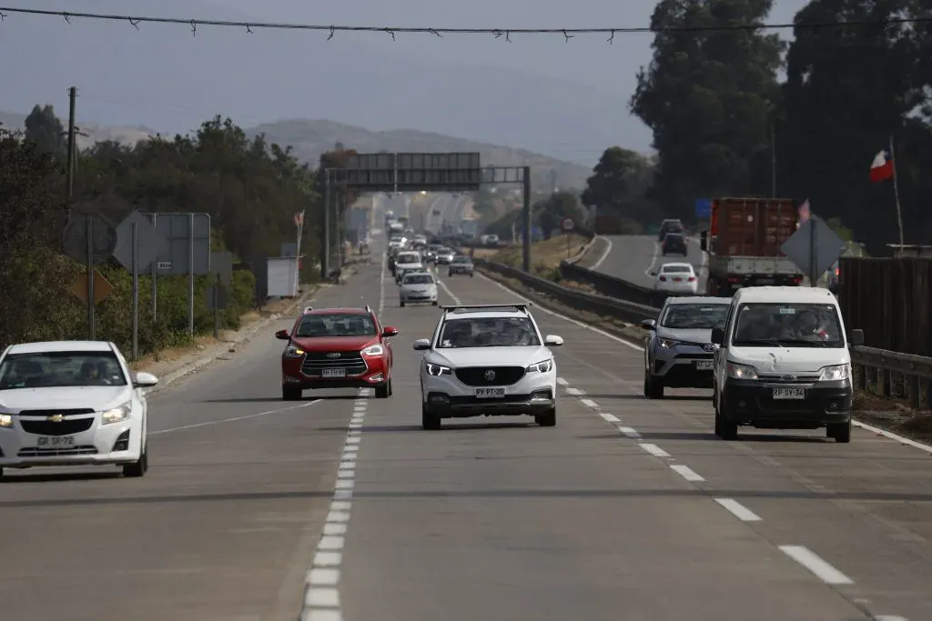
[[[700,247],[708,257],[708,295],[743,287],[799,286],[802,272],[780,247],[798,228],[791,198],[716,198]]]

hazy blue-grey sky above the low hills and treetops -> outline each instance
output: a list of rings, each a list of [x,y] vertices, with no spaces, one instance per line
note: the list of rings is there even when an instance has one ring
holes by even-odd
[[[5,4],[196,19],[507,29],[642,26],[649,23],[655,3],[653,0],[343,0],[337,3],[7,0]],[[792,20],[804,4],[805,0],[776,0],[771,21]],[[0,80],[4,85],[0,90],[0,110],[25,112],[35,102],[48,101],[63,114],[67,102],[63,93],[70,86],[67,82],[71,81],[81,89],[79,116],[100,124],[185,131],[218,112],[234,115],[234,120],[247,126],[281,117],[315,118],[323,114],[331,118],[343,115],[334,120],[375,129],[401,123],[406,128],[443,131],[447,124],[442,118],[438,120],[437,111],[432,111],[434,115],[428,118],[424,111],[418,110],[418,91],[432,94],[432,89],[446,87],[436,86],[437,80],[433,80],[433,85],[427,80],[420,85],[415,82],[417,86],[412,88],[411,74],[417,75],[421,67],[432,66],[432,75],[440,72],[449,80],[468,76],[464,79],[471,81],[470,88],[482,89],[482,68],[500,68],[512,73],[493,72],[495,88],[500,88],[502,80],[524,84],[521,80],[533,78],[535,74],[563,81],[542,87],[543,90],[563,91],[560,95],[566,101],[561,101],[556,108],[562,118],[555,119],[554,113],[547,112],[538,120],[540,126],[571,126],[574,122],[583,122],[572,118],[572,96],[576,90],[573,83],[591,87],[578,89],[577,96],[583,101],[579,104],[579,114],[607,115],[611,122],[589,129],[589,134],[578,143],[568,138],[566,132],[551,132],[552,137],[549,137],[551,134],[535,136],[532,134],[536,132],[527,126],[509,132],[505,130],[507,123],[498,128],[489,123],[490,130],[484,132],[476,128],[475,123],[456,123],[455,118],[448,123],[447,133],[476,140],[499,136],[502,141],[510,142],[510,146],[528,146],[548,155],[579,160],[595,158],[603,148],[604,143],[597,143],[599,139],[593,135],[598,127],[610,134],[605,142],[622,143],[638,150],[648,149],[651,142],[650,131],[632,117],[626,107],[637,68],[651,59],[650,34],[619,34],[613,45],[608,45],[601,34],[579,35],[569,43],[564,42],[562,35],[541,34],[514,36],[511,44],[492,36],[452,34],[443,39],[430,34],[399,34],[394,42],[389,34],[338,33],[330,42],[325,39],[326,34],[246,34],[209,27],[202,27],[197,37],[192,38],[185,26],[180,25],[143,24],[141,31],[136,32],[129,23],[89,24],[75,20],[69,26],[55,18],[9,15],[0,23],[0,54],[5,59],[0,65]],[[262,69],[240,71],[240,66],[245,66],[241,61],[226,61],[236,54],[262,58]],[[130,56],[131,61],[127,60]],[[125,61],[124,64],[120,64],[121,61]],[[363,73],[376,72],[385,82],[368,90],[365,85],[355,84],[352,77],[360,62],[367,65]],[[128,67],[125,63],[131,65]],[[330,71],[327,77],[320,78],[323,84],[301,85],[322,65]],[[191,72],[197,72],[198,82],[193,86],[186,84]],[[377,102],[391,91],[391,76],[404,73],[408,75],[398,83],[404,83],[411,109],[397,110],[398,93],[391,93],[392,106],[396,109],[392,114],[380,114]],[[334,79],[334,75],[341,77]],[[262,80],[275,80],[284,86],[276,89],[279,92],[259,97],[258,93],[250,92],[251,80],[255,80],[256,85]],[[230,90],[233,82],[240,85],[240,91]],[[542,80],[541,84],[550,82]],[[271,90],[265,86],[255,88]],[[314,106],[309,102],[317,99],[315,93],[320,94],[321,100],[315,111],[321,114],[311,112]],[[540,93],[535,97],[536,101],[541,101]],[[495,115],[492,105],[495,93],[489,93],[488,99],[489,109],[483,114]],[[361,100],[371,102],[362,112]],[[502,101],[510,110],[501,114],[515,114],[514,95]],[[602,101],[607,109],[593,112],[597,101]],[[520,102],[520,105],[527,106],[527,113],[533,115],[535,101]],[[451,111],[451,114],[459,113]],[[354,117],[346,117],[348,115]],[[417,127],[420,118],[430,127]],[[464,132],[486,135],[462,135]]]

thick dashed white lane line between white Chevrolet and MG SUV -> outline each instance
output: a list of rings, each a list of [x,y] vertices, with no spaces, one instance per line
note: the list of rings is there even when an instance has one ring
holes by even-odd
[[[384,260],[382,269],[385,269]],[[384,296],[379,293],[379,306]],[[342,550],[346,547],[346,534],[349,530],[352,493],[356,478],[356,456],[362,440],[363,419],[370,395],[368,388],[359,391],[349,419],[347,438],[336,466],[334,496],[330,502],[330,511],[324,520],[321,538],[311,561],[310,569],[305,575],[304,606],[300,621],[342,621],[340,612],[340,565],[343,563]]]

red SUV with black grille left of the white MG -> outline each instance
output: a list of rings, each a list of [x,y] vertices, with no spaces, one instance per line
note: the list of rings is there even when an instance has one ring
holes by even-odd
[[[397,328],[378,322],[372,309],[305,308],[281,353],[281,398],[295,401],[309,388],[375,386],[377,398],[391,395],[391,336]]]

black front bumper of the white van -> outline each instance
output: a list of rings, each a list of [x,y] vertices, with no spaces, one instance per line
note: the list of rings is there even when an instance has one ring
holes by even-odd
[[[802,390],[802,398],[774,398],[774,390]],[[722,414],[760,429],[817,429],[851,420],[850,381],[791,385],[729,378],[720,395]]]

